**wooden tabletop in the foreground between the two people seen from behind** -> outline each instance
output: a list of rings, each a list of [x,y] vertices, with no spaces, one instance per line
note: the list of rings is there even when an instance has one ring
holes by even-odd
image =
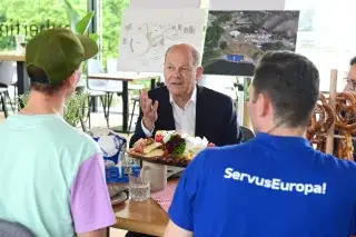
[[[178,179],[168,182],[178,182]],[[117,224],[111,228],[126,229],[152,236],[164,236],[168,214],[152,199],[147,201],[127,200],[113,206]]]

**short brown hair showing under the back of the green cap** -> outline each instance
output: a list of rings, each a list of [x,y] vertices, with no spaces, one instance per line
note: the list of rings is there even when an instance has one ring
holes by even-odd
[[[29,66],[27,69],[29,78],[47,78],[46,72],[36,66]],[[31,79],[31,89],[46,93],[48,96],[52,96],[57,91],[59,91],[67,83],[67,80],[59,81],[58,83],[40,83],[36,82]]]

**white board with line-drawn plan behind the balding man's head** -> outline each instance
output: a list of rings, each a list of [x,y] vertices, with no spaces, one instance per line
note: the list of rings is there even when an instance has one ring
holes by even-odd
[[[180,42],[200,50],[206,17],[201,9],[194,10],[198,10],[198,16],[179,10],[126,11],[120,32],[119,70],[161,72],[167,49]]]

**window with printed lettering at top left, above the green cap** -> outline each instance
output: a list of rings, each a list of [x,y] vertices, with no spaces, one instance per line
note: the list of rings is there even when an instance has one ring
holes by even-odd
[[[70,3],[80,16],[87,12],[87,0]],[[2,0],[1,6],[0,50],[14,50],[17,34],[23,34],[28,41],[43,29],[68,26],[61,0]]]

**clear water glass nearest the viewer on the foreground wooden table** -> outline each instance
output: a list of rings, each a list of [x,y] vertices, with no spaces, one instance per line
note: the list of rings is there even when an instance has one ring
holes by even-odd
[[[141,168],[140,174],[129,174],[129,198],[145,201],[150,198],[150,169]]]

